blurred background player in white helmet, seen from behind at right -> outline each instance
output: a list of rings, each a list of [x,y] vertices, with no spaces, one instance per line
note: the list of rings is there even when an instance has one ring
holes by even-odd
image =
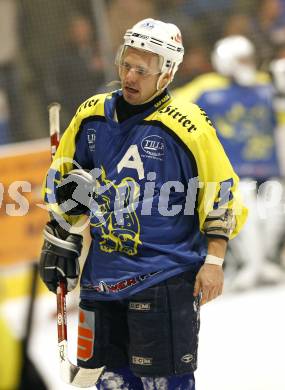
[[[280,281],[283,273],[271,261],[284,229],[274,88],[269,75],[257,71],[255,48],[244,36],[219,40],[212,63],[216,73],[196,78],[177,89],[175,96],[195,102],[207,112],[242,179],[250,213],[245,228],[231,244],[243,263],[231,286],[244,289],[261,281]],[[270,179],[275,181],[265,183]]]

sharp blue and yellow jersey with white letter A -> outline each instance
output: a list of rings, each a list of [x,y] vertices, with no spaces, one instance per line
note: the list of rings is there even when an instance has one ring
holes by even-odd
[[[233,210],[231,237],[246,219],[238,177],[197,105],[166,94],[118,123],[120,95],[97,95],[79,107],[46,180],[46,201],[59,212],[54,191],[63,175],[97,169],[92,244],[81,277],[85,299],[124,298],[199,266],[207,251],[205,219],[215,208]]]

